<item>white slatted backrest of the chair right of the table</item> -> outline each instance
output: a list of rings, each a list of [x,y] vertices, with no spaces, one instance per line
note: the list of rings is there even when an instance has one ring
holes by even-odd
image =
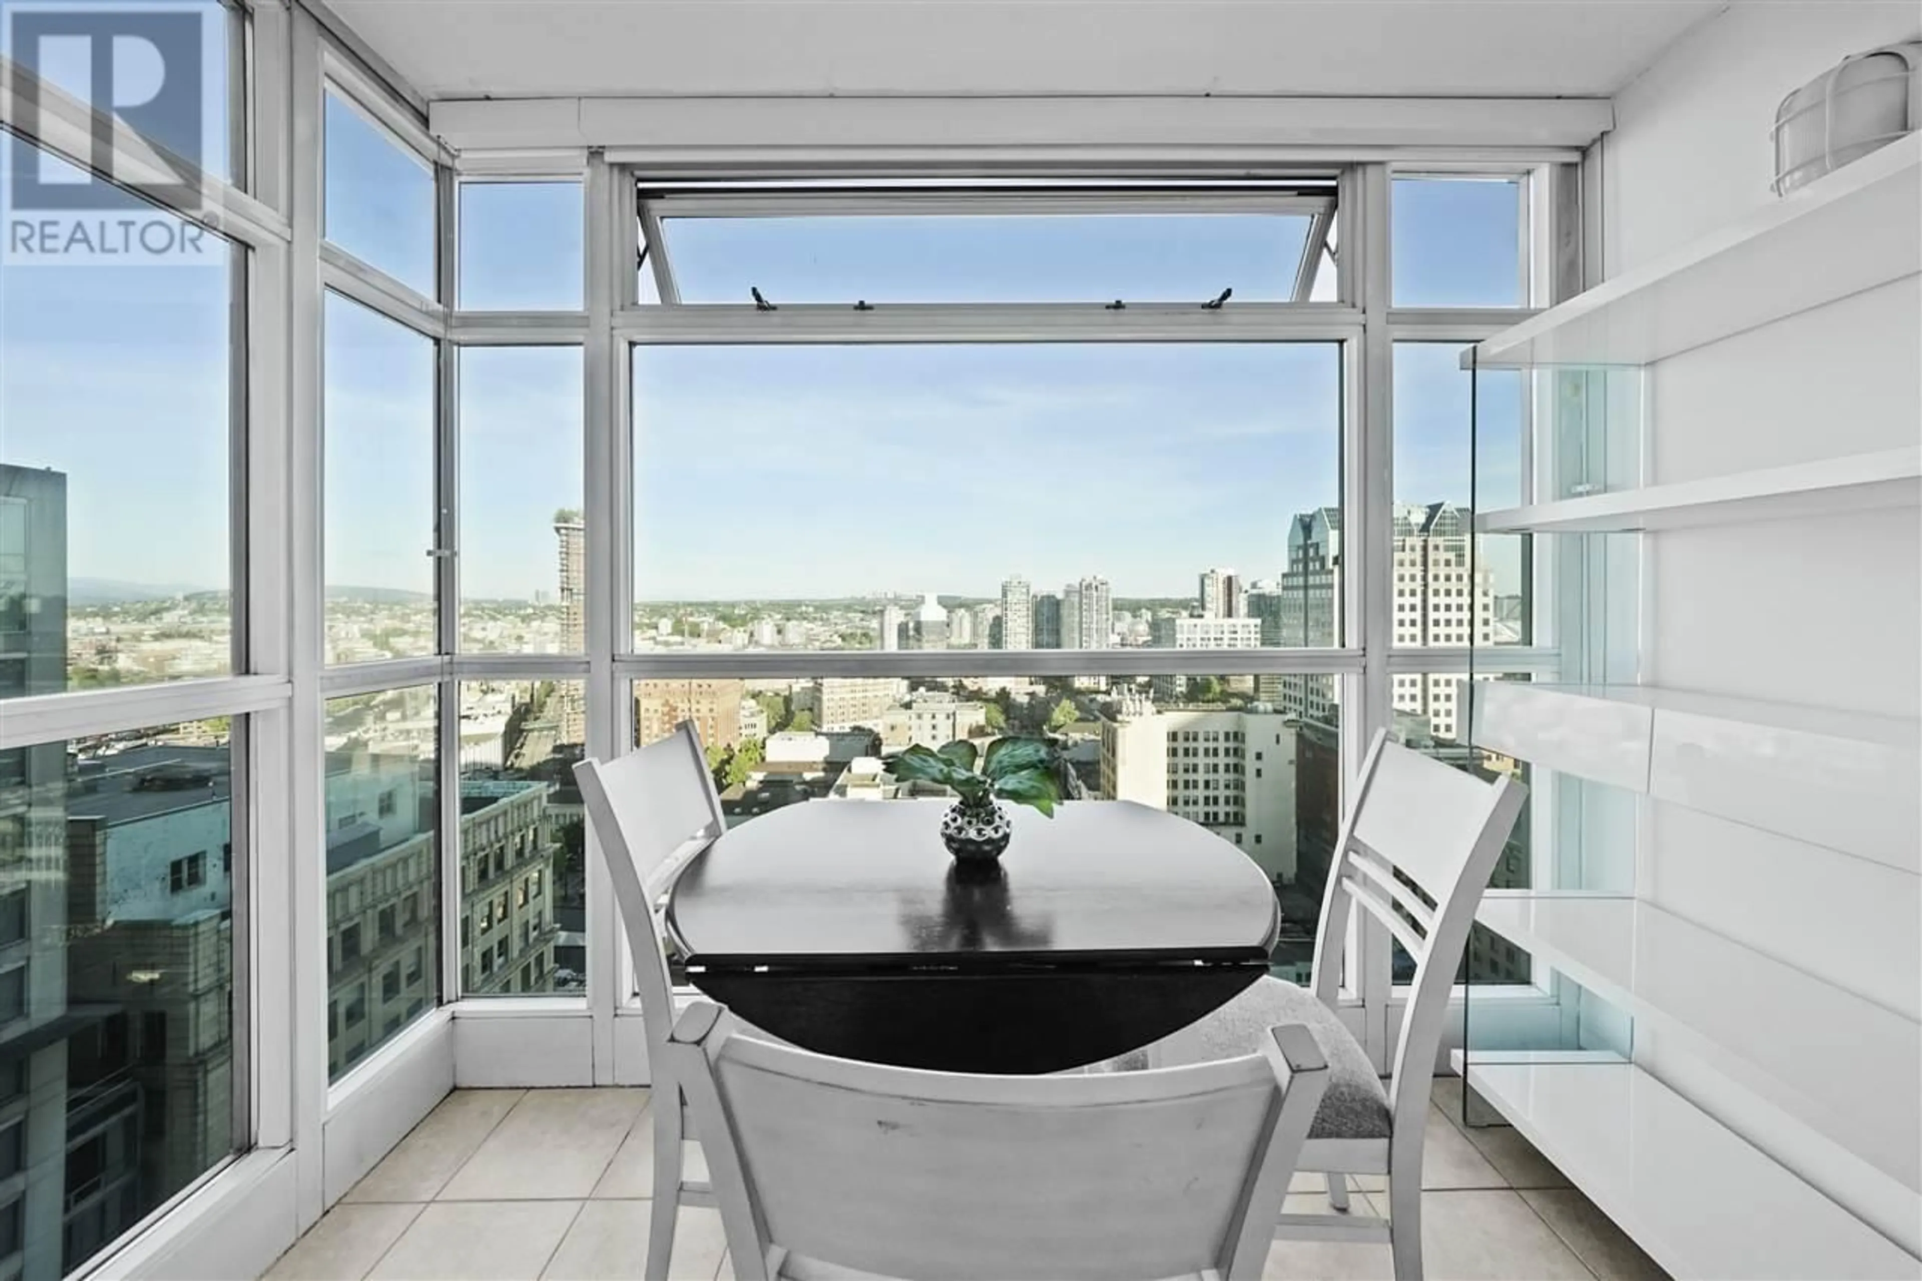
[[[1516,779],[1486,783],[1390,742],[1386,731],[1368,744],[1322,894],[1315,996],[1332,1006],[1340,994],[1342,944],[1355,908],[1386,925],[1415,960],[1390,1068],[1395,1135],[1422,1133],[1455,967],[1526,798]],[[1409,1091],[1401,1089],[1403,1068],[1417,1079]]]

